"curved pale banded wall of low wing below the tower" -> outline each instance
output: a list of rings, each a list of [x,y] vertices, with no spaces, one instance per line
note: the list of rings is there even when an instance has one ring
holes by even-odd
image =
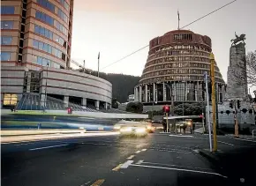
[[[48,73],[48,74],[47,74]],[[77,71],[45,68],[41,71],[40,93],[44,93],[47,78],[47,93],[76,96],[111,103],[112,85],[105,79]]]

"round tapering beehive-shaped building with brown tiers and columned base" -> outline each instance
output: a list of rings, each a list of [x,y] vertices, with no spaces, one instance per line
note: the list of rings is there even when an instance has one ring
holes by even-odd
[[[145,106],[205,100],[203,74],[210,74],[211,39],[188,30],[175,30],[149,42],[147,63],[139,85],[134,87],[135,100]],[[215,63],[218,102],[224,98],[225,82]]]

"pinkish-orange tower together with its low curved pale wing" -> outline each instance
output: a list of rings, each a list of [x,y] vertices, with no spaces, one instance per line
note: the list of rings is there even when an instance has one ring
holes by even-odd
[[[73,3],[1,1],[1,108],[17,104],[22,93],[111,104],[108,81],[70,70]]]

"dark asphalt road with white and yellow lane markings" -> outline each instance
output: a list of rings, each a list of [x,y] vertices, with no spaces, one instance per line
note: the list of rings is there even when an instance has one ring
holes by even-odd
[[[222,153],[255,147],[245,140],[218,140]],[[229,175],[200,155],[199,149],[207,147],[207,136],[167,134],[4,144],[1,182],[3,186],[229,185]],[[232,185],[240,178],[232,178]]]

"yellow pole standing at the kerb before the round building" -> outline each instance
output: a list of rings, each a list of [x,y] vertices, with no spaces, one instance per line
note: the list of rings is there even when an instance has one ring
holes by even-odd
[[[212,79],[212,111],[213,111],[213,136],[214,136],[214,149],[217,151],[217,127],[216,127],[216,99],[215,99],[215,55],[210,54],[211,61],[211,79]]]

